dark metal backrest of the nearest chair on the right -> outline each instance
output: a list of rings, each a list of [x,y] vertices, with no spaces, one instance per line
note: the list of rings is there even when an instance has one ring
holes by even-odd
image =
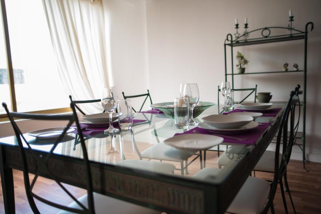
[[[294,142],[294,108],[299,102],[299,97],[295,95],[294,91],[291,91],[289,101],[283,111],[280,128],[277,135],[276,146],[275,146],[275,157],[274,157],[274,177],[273,182],[271,183],[271,190],[268,197],[268,202],[265,205],[262,213],[267,213],[270,209],[273,199],[275,196],[275,192],[277,189],[278,181],[282,179],[283,175],[286,172],[287,164],[290,160],[292,146]],[[290,127],[289,127],[289,119],[290,119]],[[288,133],[288,128],[290,128],[290,132]],[[279,153],[280,153],[280,145],[281,139],[283,143],[282,148],[282,159],[281,163],[279,162]],[[280,165],[279,165],[280,163]]]

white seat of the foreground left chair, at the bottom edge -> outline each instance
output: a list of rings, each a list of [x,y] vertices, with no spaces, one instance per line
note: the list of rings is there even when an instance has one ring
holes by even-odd
[[[161,211],[151,210],[146,207],[142,207],[136,204],[128,203],[126,201],[121,201],[115,198],[108,197],[106,195],[93,193],[94,195],[94,204],[95,204],[95,212],[97,214],[100,213],[112,213],[112,214],[123,214],[123,213],[131,213],[131,214],[160,214]],[[87,207],[87,194],[83,195],[78,199],[83,205]],[[68,205],[71,208],[80,209],[79,205],[76,202],[72,202]],[[70,214],[71,212],[60,210],[57,214]]]

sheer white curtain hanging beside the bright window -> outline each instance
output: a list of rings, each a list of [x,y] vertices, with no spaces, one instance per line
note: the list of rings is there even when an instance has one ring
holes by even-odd
[[[103,6],[100,1],[42,0],[59,74],[73,100],[98,99],[109,86]],[[85,113],[102,112],[100,103]]]

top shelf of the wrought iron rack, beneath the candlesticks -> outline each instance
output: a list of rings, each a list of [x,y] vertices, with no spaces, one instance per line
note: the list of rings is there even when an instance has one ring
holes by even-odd
[[[265,43],[272,43],[272,42],[292,41],[292,40],[299,40],[304,38],[305,38],[304,34],[300,34],[298,36],[275,37],[271,39],[262,38],[262,39],[255,39],[255,40],[250,40],[250,39],[239,40],[233,43],[227,43],[226,45],[237,47],[237,46],[245,46],[245,45],[265,44]]]

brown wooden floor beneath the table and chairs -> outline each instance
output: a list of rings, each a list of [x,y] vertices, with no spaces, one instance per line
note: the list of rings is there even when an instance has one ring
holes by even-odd
[[[210,152],[209,152],[210,153]],[[217,159],[216,152],[207,154],[209,162],[215,163]],[[190,174],[193,173],[193,168],[199,167],[199,163],[193,163],[189,168]],[[210,165],[210,164],[209,164]],[[208,166],[213,167],[213,166]],[[321,213],[321,163],[307,163],[307,168],[310,172],[306,172],[302,167],[302,162],[291,160],[288,165],[288,181],[291,189],[291,195],[294,200],[297,213]],[[177,173],[177,172],[176,172]],[[14,174],[14,188],[15,188],[15,207],[16,213],[32,213],[30,206],[26,199],[23,176],[20,171],[13,170]],[[30,175],[32,177],[33,175]],[[256,177],[265,179],[272,179],[273,174],[269,173],[256,173]],[[54,198],[58,203],[68,204],[72,201],[69,196],[64,195],[59,191],[58,185],[49,179],[40,178],[36,185],[35,191],[44,197]],[[67,185],[69,190],[75,197],[80,197],[86,192],[83,189]],[[0,192],[2,196],[2,191]],[[290,200],[288,199],[288,209],[290,213],[294,213],[291,207]],[[58,210],[36,201],[39,211],[41,213],[56,213]],[[274,209],[276,213],[285,213],[281,192],[278,188],[274,199]],[[0,197],[0,213],[4,213],[3,197]]]

